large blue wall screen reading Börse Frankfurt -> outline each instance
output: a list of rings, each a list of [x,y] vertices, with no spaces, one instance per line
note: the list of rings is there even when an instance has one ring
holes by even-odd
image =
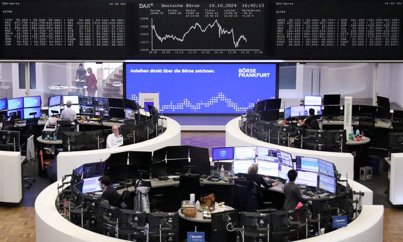
[[[162,113],[245,113],[277,97],[272,63],[126,64],[126,98],[159,93]]]

